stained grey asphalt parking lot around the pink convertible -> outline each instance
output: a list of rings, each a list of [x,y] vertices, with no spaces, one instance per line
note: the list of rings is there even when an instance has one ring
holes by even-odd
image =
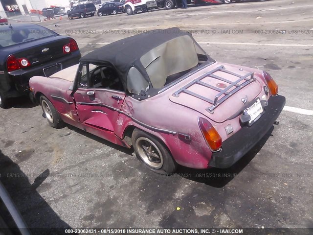
[[[15,99],[0,110],[1,181],[29,227],[313,228],[311,0],[190,5],[39,24],[73,37],[82,55],[142,30],[190,30],[215,60],[268,71],[286,108],[279,125],[231,168],[180,167],[161,176],[133,150],[71,126],[53,129],[40,106]],[[16,177],[20,173],[25,177]]]

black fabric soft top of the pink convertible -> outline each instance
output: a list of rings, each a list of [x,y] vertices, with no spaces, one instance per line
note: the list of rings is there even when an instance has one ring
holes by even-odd
[[[188,36],[188,47],[189,45],[193,48],[195,48],[195,45],[200,47],[193,39],[192,35],[184,30],[180,30],[179,28],[156,29],[121,39],[99,49],[95,49],[83,56],[80,61],[112,65],[117,71],[124,87],[127,89],[126,79],[131,67],[135,67],[142,74],[144,79],[150,82],[148,72],[146,71],[149,65],[143,65],[143,61],[140,60],[142,56],[146,55],[149,51],[151,53],[151,50],[155,47],[182,36]],[[206,55],[204,51],[203,54]]]

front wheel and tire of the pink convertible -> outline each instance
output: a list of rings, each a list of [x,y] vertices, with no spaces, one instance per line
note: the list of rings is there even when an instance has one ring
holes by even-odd
[[[48,100],[48,98],[45,97],[45,95],[40,96],[40,105],[41,105],[43,112],[44,112],[43,116],[47,119],[50,126],[57,128],[57,129],[65,126],[65,123],[61,119],[60,114],[54,108],[54,106],[50,102],[50,100]],[[47,111],[46,106],[48,106],[50,112]],[[47,117],[48,113],[50,114],[49,117]]]

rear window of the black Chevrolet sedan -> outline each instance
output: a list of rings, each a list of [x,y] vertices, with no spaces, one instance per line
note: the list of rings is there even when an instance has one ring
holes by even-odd
[[[27,28],[9,27],[0,29],[0,47],[8,47],[56,35],[53,31],[37,25]]]

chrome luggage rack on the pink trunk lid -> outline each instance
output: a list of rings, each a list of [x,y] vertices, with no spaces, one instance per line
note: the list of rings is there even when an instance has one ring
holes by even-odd
[[[217,75],[214,75],[213,73],[217,72],[217,71],[222,71],[222,72],[225,72],[225,73],[228,73],[228,74],[231,74],[233,76],[236,76],[236,77],[239,77],[238,80],[232,82],[232,81],[229,81],[227,79],[224,79],[223,77],[220,77],[220,76],[217,76]],[[174,97],[179,97],[179,94],[180,93],[185,93],[185,94],[190,94],[192,96],[195,96],[199,99],[202,99],[210,104],[212,104],[212,106],[210,107],[207,107],[206,108],[206,111],[208,111],[209,113],[213,114],[214,113],[214,110],[220,105],[222,104],[226,99],[228,99],[231,95],[235,94],[236,92],[238,92],[239,90],[241,90],[242,88],[246,87],[246,85],[250,84],[251,82],[255,81],[255,78],[253,76],[253,72],[249,72],[247,73],[246,75],[242,76],[242,75],[239,75],[237,73],[234,73],[234,72],[231,72],[231,71],[228,71],[228,70],[225,70],[225,67],[222,65],[222,66],[219,66],[218,68],[214,69],[214,70],[211,70],[211,71],[208,71],[204,74],[202,74],[200,77],[198,77],[197,79],[193,80],[192,82],[188,83],[186,86],[180,88],[177,92],[173,93],[172,95]],[[205,82],[202,82],[201,80],[205,77],[213,77],[215,79],[218,79],[220,81],[223,81],[223,82],[226,82],[228,84],[230,84],[229,86],[227,86],[224,90],[218,88],[218,87],[215,87],[215,86],[212,86],[210,84],[207,84]],[[242,80],[245,80],[244,83],[242,84],[238,84],[240,81]],[[191,92],[189,90],[187,90],[189,87],[191,87],[192,85],[194,84],[199,84],[201,86],[204,86],[204,87],[208,87],[208,88],[211,88],[215,91],[218,91],[220,92],[219,94],[215,95],[214,97],[214,100],[211,100],[209,98],[206,98],[200,94],[196,94],[194,92]],[[235,89],[233,89],[231,92],[228,92],[231,88],[233,87],[236,87]],[[221,95],[224,96],[219,99],[221,97]]]

